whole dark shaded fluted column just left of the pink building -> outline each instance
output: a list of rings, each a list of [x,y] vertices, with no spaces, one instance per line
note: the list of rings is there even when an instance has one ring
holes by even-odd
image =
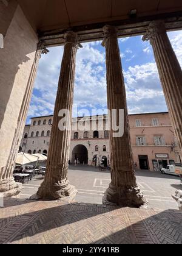
[[[140,207],[146,201],[136,184],[132,147],[130,143],[129,116],[127,113],[126,90],[121,66],[115,27],[105,26],[103,46],[106,47],[107,68],[107,104],[110,112],[113,109],[124,110],[124,135],[113,137],[110,131],[110,161],[112,167],[112,182],[106,191],[106,201],[121,205],[121,207]],[[112,121],[113,116],[111,116]],[[112,126],[112,124],[111,124]]]

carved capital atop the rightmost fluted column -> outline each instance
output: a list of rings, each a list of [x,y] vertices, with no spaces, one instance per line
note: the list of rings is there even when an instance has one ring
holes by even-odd
[[[147,28],[146,34],[144,34],[142,40],[149,41],[158,35],[166,33],[166,26],[163,20],[152,21]]]

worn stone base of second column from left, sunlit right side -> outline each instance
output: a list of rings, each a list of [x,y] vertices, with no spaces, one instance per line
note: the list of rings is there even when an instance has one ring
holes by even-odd
[[[45,183],[41,184],[36,194],[30,197],[30,200],[59,200],[66,202],[73,202],[78,191],[75,187],[67,183],[66,185],[52,185],[47,186]]]

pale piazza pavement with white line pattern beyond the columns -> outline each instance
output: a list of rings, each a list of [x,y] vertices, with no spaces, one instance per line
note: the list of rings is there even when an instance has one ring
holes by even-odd
[[[177,188],[182,189],[178,177],[160,172],[136,171],[136,178],[150,208],[178,210],[177,202],[171,197]],[[110,183],[110,171],[100,172],[90,166],[70,166],[69,180],[78,190],[76,202],[102,204],[103,193]],[[41,182],[41,177],[36,177],[32,182],[25,183],[21,198],[29,198],[36,193]]]

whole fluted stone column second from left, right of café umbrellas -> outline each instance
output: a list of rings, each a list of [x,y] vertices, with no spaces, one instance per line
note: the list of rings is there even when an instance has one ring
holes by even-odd
[[[39,188],[36,198],[66,199],[71,201],[77,191],[67,179],[70,151],[70,126],[72,124],[73,89],[75,80],[76,51],[78,36],[68,32],[65,35],[64,55],[62,57],[61,74],[59,77],[58,93],[55,103],[52,135],[50,138],[47,169],[44,182]],[[69,110],[66,130],[60,130],[58,125],[61,117],[60,110]],[[33,198],[33,197],[32,197]]]

